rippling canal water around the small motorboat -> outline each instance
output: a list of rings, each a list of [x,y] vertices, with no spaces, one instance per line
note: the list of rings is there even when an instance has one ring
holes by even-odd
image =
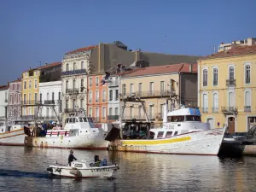
[[[119,164],[115,179],[52,178],[46,168],[67,163],[68,149],[0,146],[0,191],[255,191],[256,157],[136,154],[74,150],[79,160]]]

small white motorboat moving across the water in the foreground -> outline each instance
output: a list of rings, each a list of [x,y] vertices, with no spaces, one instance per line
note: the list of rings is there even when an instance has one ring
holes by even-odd
[[[112,178],[113,172],[119,170],[117,165],[96,166],[92,161],[75,160],[71,166],[55,165],[49,166],[47,171],[53,176],[59,177],[106,177]]]

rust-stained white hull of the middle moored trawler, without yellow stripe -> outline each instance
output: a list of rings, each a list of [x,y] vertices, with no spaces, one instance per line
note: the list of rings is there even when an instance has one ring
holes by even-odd
[[[75,137],[26,137],[28,147],[37,148],[77,148],[88,150],[106,150],[108,141],[100,133],[79,135]]]

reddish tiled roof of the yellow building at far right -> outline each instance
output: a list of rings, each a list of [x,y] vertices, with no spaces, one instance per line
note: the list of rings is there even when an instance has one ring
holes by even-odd
[[[256,44],[253,45],[237,45],[234,48],[220,51],[218,53],[207,55],[201,60],[204,59],[213,59],[213,58],[223,58],[223,57],[231,57],[231,56],[241,56],[241,55],[253,55],[256,54]]]

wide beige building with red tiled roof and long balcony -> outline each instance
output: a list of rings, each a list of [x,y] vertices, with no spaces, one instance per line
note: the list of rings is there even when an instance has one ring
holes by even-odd
[[[127,71],[120,74],[119,90],[121,108],[125,97],[139,96],[145,101],[149,119],[160,123],[166,99],[171,95],[177,95],[179,104],[197,105],[197,65],[183,63]],[[123,119],[145,120],[142,106],[135,102],[127,103]]]

